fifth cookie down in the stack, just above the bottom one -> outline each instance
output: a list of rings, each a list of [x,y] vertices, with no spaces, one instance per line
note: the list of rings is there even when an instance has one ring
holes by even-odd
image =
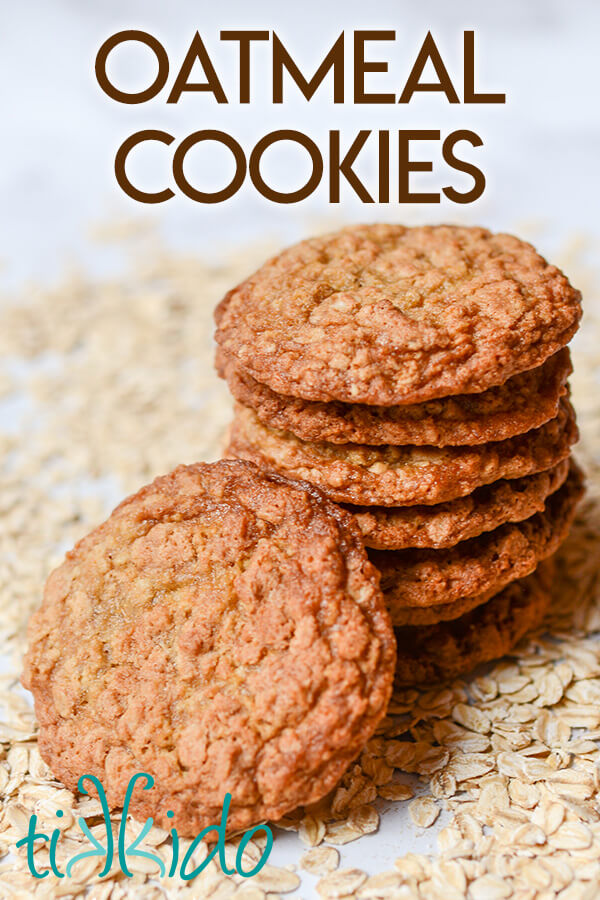
[[[392,622],[406,607],[451,604],[496,594],[524,578],[558,548],[568,534],[583,493],[583,476],[573,464],[565,484],[543,512],[524,522],[463,541],[449,550],[371,550]],[[398,611],[398,616],[396,615]]]

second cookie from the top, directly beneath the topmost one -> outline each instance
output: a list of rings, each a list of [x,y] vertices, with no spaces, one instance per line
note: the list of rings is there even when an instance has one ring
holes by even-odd
[[[322,403],[284,397],[235,365],[219,348],[217,370],[236,400],[261,422],[305,441],[333,444],[431,444],[446,447],[503,441],[539,428],[558,412],[572,371],[565,347],[543,365],[482,394],[409,406]]]

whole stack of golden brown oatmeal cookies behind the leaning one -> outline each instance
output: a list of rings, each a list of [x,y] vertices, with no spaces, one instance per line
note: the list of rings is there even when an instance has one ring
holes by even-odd
[[[543,617],[583,489],[580,299],[510,235],[367,225],[287,249],[217,308],[227,455],[355,514],[400,681],[501,656]]]

